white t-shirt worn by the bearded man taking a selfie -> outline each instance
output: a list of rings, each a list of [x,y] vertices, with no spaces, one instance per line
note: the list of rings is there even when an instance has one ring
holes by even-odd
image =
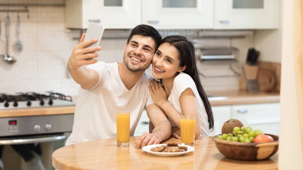
[[[66,145],[117,137],[119,111],[130,111],[130,136],[133,136],[144,107],[154,103],[148,91],[152,77],[144,73],[128,90],[120,78],[118,63],[97,62],[87,68],[97,71],[99,81],[89,90],[79,90],[73,131]]]

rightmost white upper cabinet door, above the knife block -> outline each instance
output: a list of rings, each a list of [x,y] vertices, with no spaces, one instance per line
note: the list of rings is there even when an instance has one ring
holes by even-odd
[[[215,0],[215,29],[275,29],[280,25],[278,0]]]

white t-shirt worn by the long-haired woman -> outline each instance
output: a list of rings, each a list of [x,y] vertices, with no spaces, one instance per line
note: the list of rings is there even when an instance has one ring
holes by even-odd
[[[205,110],[203,100],[201,99],[198,93],[194,81],[188,74],[180,73],[178,76],[175,77],[173,83],[173,89],[171,91],[170,96],[168,97],[168,101],[175,107],[175,109],[180,114],[182,114],[179,98],[181,96],[181,93],[187,88],[191,88],[196,98],[201,135],[209,136],[210,130],[209,130],[208,116]],[[176,127],[176,125],[171,120],[170,122],[172,124],[172,127]]]

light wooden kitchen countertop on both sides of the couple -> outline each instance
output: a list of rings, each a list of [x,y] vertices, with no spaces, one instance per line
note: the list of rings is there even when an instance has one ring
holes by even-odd
[[[212,106],[249,104],[249,103],[269,103],[280,102],[279,93],[265,92],[239,92],[239,91],[207,91]],[[73,97],[76,99],[76,97]],[[24,116],[45,116],[74,114],[75,106],[53,106],[42,108],[23,108],[23,109],[0,109],[0,118],[24,117]]]

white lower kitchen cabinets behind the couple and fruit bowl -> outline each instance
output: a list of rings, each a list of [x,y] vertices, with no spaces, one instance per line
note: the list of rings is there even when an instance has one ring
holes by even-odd
[[[225,121],[240,120],[245,127],[260,129],[265,133],[279,135],[280,103],[252,103],[212,106],[214,115],[214,130],[210,136],[221,134]],[[146,110],[142,112],[134,136],[141,136],[148,130],[149,119]]]

